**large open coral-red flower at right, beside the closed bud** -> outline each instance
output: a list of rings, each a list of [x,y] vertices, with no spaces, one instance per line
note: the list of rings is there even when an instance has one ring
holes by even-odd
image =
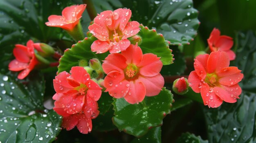
[[[204,105],[219,107],[222,101],[236,102],[242,90],[238,85],[243,79],[237,67],[229,67],[229,57],[225,52],[198,55],[195,70],[189,75],[189,86],[194,92],[201,92]]]

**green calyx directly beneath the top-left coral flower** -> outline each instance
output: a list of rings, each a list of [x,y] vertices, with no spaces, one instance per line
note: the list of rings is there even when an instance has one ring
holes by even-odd
[[[72,31],[67,31],[67,33],[69,33],[76,42],[83,40],[85,37],[80,21]]]

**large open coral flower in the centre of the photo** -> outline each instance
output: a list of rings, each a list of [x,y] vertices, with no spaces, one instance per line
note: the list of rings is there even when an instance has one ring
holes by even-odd
[[[159,73],[163,64],[157,55],[142,54],[141,48],[130,45],[126,51],[112,53],[103,61],[102,68],[106,92],[112,97],[124,97],[134,104],[143,101],[145,95],[158,95],[164,86],[164,78]]]

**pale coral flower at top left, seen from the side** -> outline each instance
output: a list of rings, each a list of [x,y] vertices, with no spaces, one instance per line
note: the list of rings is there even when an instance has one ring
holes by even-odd
[[[82,17],[83,11],[85,10],[86,4],[72,5],[66,7],[60,15],[50,15],[48,17],[49,22],[45,24],[52,27],[61,27],[67,31],[72,31],[74,27],[79,23]]]

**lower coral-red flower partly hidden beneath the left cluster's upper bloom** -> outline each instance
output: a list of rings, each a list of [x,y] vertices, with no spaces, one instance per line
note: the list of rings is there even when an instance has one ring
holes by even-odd
[[[92,119],[95,119],[99,115],[98,103],[94,101],[90,96],[87,96],[86,103],[83,105],[82,110],[79,112],[67,113],[66,110],[68,106],[75,109],[76,104],[65,104],[61,103],[63,99],[67,99],[67,95],[62,93],[56,93],[52,98],[56,100],[54,102],[54,111],[59,115],[63,116],[62,127],[66,130],[72,130],[75,126],[79,132],[83,134],[88,134],[92,130]],[[72,99],[67,99],[70,101]],[[62,104],[62,105],[61,105]],[[65,105],[64,105],[65,104]],[[81,103],[82,104],[82,103]]]

